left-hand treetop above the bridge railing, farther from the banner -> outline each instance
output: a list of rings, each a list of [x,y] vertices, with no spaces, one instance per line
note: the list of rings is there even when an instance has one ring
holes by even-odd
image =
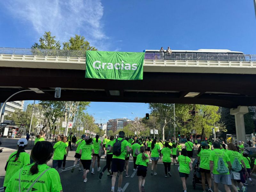
[[[39,44],[35,43],[31,48],[60,49],[60,41],[56,41],[55,38],[56,36],[52,36],[51,31],[45,31],[43,37],[39,38]]]

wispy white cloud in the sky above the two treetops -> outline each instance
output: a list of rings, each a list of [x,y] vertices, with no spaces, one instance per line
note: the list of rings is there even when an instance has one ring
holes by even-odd
[[[31,23],[38,33],[36,39],[44,31],[51,31],[61,42],[79,34],[93,46],[106,49],[103,42],[108,37],[101,23],[104,10],[101,0],[12,0],[5,5],[13,17]]]

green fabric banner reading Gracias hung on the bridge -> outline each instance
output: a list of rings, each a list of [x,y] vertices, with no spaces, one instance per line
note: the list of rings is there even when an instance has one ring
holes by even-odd
[[[86,78],[143,79],[145,52],[86,51]]]

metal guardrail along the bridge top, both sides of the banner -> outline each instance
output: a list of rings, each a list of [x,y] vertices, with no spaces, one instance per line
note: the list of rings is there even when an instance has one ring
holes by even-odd
[[[85,50],[35,49],[35,48],[6,48],[0,47],[0,54],[8,55],[38,55],[86,57]],[[211,61],[256,61],[256,54],[228,53],[166,53],[146,52],[145,60],[211,60]]]

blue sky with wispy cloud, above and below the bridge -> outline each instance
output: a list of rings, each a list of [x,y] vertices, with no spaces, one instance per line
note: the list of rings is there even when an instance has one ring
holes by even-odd
[[[255,54],[252,0],[44,0],[0,2],[0,46],[31,47],[44,31],[83,35],[101,51],[229,49]],[[122,107],[123,106],[123,107]],[[147,104],[95,103],[95,118],[143,116]],[[100,121],[100,120],[99,120]],[[98,121],[98,122],[99,122]]]

